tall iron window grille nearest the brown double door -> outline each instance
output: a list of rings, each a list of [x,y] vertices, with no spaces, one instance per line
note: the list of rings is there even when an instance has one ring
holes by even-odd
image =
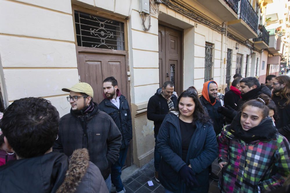
[[[213,80],[212,67],[213,67],[213,44],[205,43],[205,67],[204,67],[204,82]]]

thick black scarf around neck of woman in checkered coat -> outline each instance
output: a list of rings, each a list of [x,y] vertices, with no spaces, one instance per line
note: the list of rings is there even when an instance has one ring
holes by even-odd
[[[247,144],[256,140],[262,141],[276,138],[278,130],[273,125],[273,121],[270,117],[264,118],[259,125],[245,131],[241,125],[241,114],[241,111],[238,112],[233,122],[227,128],[227,130],[233,132],[235,138],[242,139]]]

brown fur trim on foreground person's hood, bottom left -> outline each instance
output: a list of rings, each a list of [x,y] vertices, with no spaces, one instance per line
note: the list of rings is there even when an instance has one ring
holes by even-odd
[[[73,193],[77,190],[77,186],[83,179],[90,163],[89,153],[87,149],[74,150],[68,170],[66,171],[66,177],[61,186],[57,189],[56,193],[70,192]]]

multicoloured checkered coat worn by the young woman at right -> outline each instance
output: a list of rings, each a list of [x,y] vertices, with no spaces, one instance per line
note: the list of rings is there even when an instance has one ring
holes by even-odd
[[[282,186],[290,173],[287,139],[277,133],[276,139],[246,144],[226,127],[218,135],[219,162],[227,162],[219,182],[221,191],[250,193]]]

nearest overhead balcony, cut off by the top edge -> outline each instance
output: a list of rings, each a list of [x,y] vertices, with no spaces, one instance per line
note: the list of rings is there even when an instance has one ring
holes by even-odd
[[[197,2],[213,12],[223,21],[237,19],[238,1],[239,0],[197,0]]]

